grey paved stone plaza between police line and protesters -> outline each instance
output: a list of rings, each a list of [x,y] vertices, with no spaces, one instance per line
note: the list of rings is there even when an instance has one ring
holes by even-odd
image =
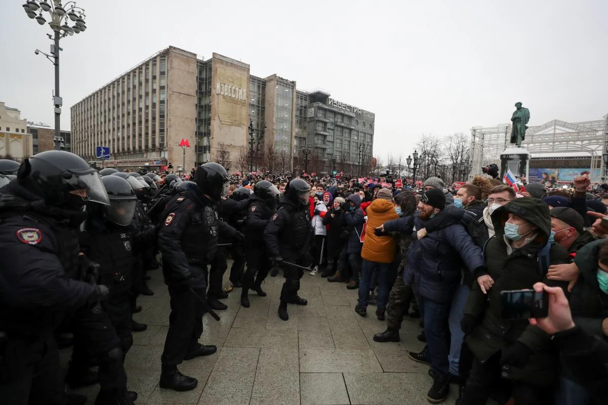
[[[218,352],[179,366],[198,379],[196,389],[160,389],[170,307],[162,271],[149,274],[156,294],[142,296],[143,310],[136,314],[148,330],[133,334],[125,361],[128,387],[139,393],[137,404],[429,404],[429,367],[407,357],[407,350],[424,345],[416,339],[418,320],[404,321],[401,342],[377,343],[372,336],[386,324],[376,319],[376,307],[370,305],[367,318],[361,318],[353,310],[357,291],[327,282],[320,273],[304,274],[300,296],[308,305],[289,305],[287,322],[277,316],[283,277],[266,279],[264,298],[250,293],[250,308],[241,307],[236,288],[223,300],[228,309],[218,311],[221,321],[204,318],[201,343],[217,345]],[[69,349],[62,357],[65,364]],[[88,395],[87,404],[93,404],[97,386],[75,392]],[[452,384],[445,403],[454,404],[457,393]]]

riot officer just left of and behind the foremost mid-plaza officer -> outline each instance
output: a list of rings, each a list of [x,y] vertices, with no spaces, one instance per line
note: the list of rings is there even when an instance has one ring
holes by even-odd
[[[247,270],[243,276],[241,291],[241,305],[245,308],[249,308],[247,296],[249,289],[254,290],[261,297],[266,296],[261,284],[268,276],[272,264],[264,243],[264,229],[277,209],[278,195],[278,189],[274,184],[268,180],[261,180],[255,184],[254,194],[250,197],[251,203],[247,209],[244,228]]]

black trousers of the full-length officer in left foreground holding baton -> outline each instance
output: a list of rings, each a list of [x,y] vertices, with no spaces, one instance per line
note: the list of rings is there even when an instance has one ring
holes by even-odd
[[[171,305],[169,331],[161,362],[163,366],[177,366],[184,361],[188,352],[193,352],[198,347],[204,315],[200,300],[206,300],[207,296],[204,288],[192,290],[189,286],[170,286],[169,296]]]

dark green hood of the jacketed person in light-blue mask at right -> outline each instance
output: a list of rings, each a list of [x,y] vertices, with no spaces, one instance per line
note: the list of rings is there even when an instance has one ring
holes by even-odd
[[[544,242],[547,242],[551,233],[551,217],[547,204],[542,200],[534,197],[522,197],[496,208],[496,211],[492,213],[492,224],[494,225],[494,232],[499,237],[505,234],[505,222],[509,214],[522,217],[532,225],[538,226],[538,231],[541,233]]]

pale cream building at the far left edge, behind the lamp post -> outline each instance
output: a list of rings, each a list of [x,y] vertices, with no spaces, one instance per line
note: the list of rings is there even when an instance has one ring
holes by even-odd
[[[10,155],[21,161],[33,154],[32,134],[21,111],[0,101],[0,156]]]

